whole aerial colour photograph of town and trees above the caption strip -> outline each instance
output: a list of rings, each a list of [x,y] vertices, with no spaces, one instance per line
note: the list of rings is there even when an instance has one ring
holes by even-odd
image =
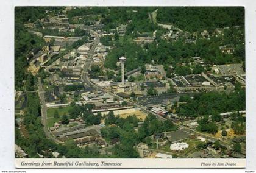
[[[15,158],[246,158],[244,7],[15,7]]]

